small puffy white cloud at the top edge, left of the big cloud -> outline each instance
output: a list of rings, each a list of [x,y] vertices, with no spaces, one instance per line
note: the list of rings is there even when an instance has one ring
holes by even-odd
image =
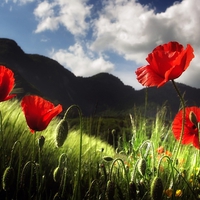
[[[57,30],[62,25],[73,35],[84,35],[89,28],[86,19],[90,17],[91,8],[85,0],[54,0],[51,3],[43,1],[34,10],[39,21],[35,32]]]

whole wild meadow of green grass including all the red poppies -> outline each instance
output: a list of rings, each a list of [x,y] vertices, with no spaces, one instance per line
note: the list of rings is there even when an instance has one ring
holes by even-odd
[[[193,57],[190,45],[177,42],[148,55],[138,81],[158,90],[171,81],[180,107],[173,119],[165,106],[154,118],[145,115],[146,104],[134,107],[120,135],[115,127],[108,133],[101,117],[83,117],[78,105],[63,111],[42,97],[15,99],[13,74],[1,66],[1,199],[200,199],[200,108],[187,107],[174,81]]]

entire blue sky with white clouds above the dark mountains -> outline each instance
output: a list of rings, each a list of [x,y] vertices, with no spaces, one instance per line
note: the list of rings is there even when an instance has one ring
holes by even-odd
[[[157,45],[191,44],[178,82],[200,88],[200,0],[1,0],[0,37],[76,76],[108,72],[141,89],[135,70]]]

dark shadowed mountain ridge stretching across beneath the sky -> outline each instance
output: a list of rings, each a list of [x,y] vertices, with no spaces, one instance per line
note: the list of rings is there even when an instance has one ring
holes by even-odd
[[[26,94],[36,94],[54,104],[62,104],[64,109],[79,105],[84,115],[128,114],[134,106],[143,107],[148,98],[149,113],[155,113],[157,106],[167,102],[176,113],[180,101],[171,83],[157,89],[155,87],[135,90],[108,73],[91,77],[76,77],[57,61],[38,54],[25,53],[11,39],[0,38],[0,64],[10,68],[16,79],[15,88]],[[200,89],[178,84],[187,105],[200,104]],[[147,94],[147,96],[146,96]]]

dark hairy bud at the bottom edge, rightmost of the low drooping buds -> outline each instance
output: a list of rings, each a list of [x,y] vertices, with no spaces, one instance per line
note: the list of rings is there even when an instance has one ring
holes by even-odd
[[[163,183],[161,178],[155,177],[151,184],[151,197],[153,200],[161,200],[163,194]]]

